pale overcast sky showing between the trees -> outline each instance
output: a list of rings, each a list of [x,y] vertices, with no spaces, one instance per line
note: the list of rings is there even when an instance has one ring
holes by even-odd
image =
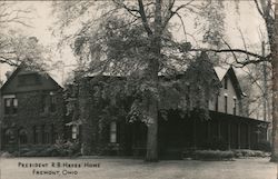
[[[252,1],[240,1],[239,2],[239,12],[240,14],[236,13],[234,8],[234,3],[227,1],[227,7],[230,10],[227,11],[227,19],[226,19],[226,30],[227,37],[231,42],[232,47],[240,48],[242,47],[242,40],[238,28],[241,29],[242,33],[246,36],[246,40],[250,44],[259,44],[260,42],[260,34],[259,31],[265,31],[264,22],[257,10],[254,6]],[[53,26],[54,17],[51,13],[51,1],[23,1],[19,2],[20,7],[32,7],[32,27],[33,28],[20,28],[17,30],[27,34],[33,36],[39,39],[39,41],[46,46],[54,47],[58,42],[58,39],[51,34],[49,30],[50,27]],[[177,19],[175,20],[177,21]],[[187,31],[193,31],[192,27],[193,21],[188,21],[187,23]],[[188,26],[189,24],[189,26]],[[180,31],[175,31],[175,37],[181,38],[182,33]],[[259,51],[258,51],[259,52]],[[75,57],[70,52],[70,49],[66,49],[62,54],[57,52],[56,58],[53,61],[62,60],[66,64],[71,64],[75,60]],[[56,71],[50,71],[51,76],[58,80],[59,83],[62,82],[63,79],[67,77],[67,72],[71,71],[72,68],[66,68],[64,73]],[[9,70],[8,66],[0,64],[0,78],[4,79],[6,71]]]

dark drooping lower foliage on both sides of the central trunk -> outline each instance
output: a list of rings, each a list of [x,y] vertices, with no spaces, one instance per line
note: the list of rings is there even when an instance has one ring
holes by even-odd
[[[199,110],[200,118],[208,119],[208,100],[220,84],[206,54],[192,61],[183,74],[159,78],[158,92],[150,91],[148,84],[132,77],[96,76],[85,80],[89,81],[93,108],[99,109],[98,117],[106,122],[127,118],[129,121],[141,120],[148,123],[146,99],[150,98],[150,93],[156,93],[159,99],[160,111],[178,109],[181,113],[190,115],[191,111]],[[76,103],[75,100],[73,102]],[[75,106],[70,105],[68,108],[71,107],[71,111],[78,109]]]

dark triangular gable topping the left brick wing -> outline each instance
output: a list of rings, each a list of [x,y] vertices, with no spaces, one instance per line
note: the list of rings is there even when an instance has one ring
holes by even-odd
[[[17,93],[38,90],[58,90],[61,87],[47,73],[18,67],[1,88],[1,93]]]

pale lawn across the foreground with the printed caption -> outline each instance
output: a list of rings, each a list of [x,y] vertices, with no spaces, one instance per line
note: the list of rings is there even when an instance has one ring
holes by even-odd
[[[0,162],[0,179],[276,179],[277,173],[277,165],[269,162],[269,158],[157,163],[97,157],[1,158]]]

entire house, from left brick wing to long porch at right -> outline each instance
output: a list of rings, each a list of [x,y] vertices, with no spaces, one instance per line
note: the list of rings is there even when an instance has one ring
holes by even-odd
[[[168,120],[158,113],[161,157],[191,149],[260,149],[266,141],[268,122],[242,113],[246,95],[232,67],[214,71],[221,88],[208,101],[208,120],[181,116],[177,109],[167,111]],[[107,108],[109,102],[97,97],[103,83],[115,82],[116,90],[120,81],[125,78],[82,78],[62,95],[50,76],[20,66],[0,90],[1,150],[48,147],[60,138],[80,142],[82,155],[145,155],[147,126],[128,122],[125,113],[132,99],[119,98],[120,103]]]

